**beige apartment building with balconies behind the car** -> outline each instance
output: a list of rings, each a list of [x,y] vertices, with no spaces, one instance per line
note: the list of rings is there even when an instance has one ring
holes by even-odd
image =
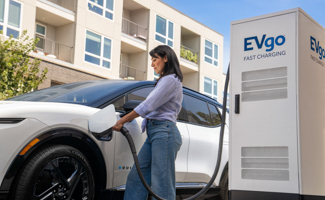
[[[160,0],[0,0],[0,30],[39,38],[39,88],[94,79],[154,80],[149,52],[174,49],[183,85],[222,100],[223,36]]]

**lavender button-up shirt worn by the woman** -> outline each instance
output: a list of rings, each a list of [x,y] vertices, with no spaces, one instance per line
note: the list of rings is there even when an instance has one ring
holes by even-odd
[[[142,118],[145,118],[141,125],[142,132],[146,129],[147,118],[176,123],[182,101],[183,87],[178,77],[175,77],[175,74],[162,77],[146,100],[134,109]]]

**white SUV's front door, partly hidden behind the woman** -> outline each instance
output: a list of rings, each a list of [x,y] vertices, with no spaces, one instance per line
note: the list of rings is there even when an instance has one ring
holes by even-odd
[[[153,90],[153,87],[142,87],[127,93],[125,96],[117,99],[113,104],[116,110],[122,110],[122,106],[129,100],[144,101],[149,93]],[[185,110],[183,110],[185,112]],[[141,117],[126,123],[124,126],[129,130],[134,140],[137,153],[140,151],[144,141],[147,138],[146,133],[141,133],[141,123],[143,119]],[[188,131],[186,124],[183,122],[177,123],[177,127],[182,136],[182,147],[177,154],[175,161],[176,164],[176,182],[183,182],[187,173],[187,152],[188,152]],[[126,183],[127,175],[133,166],[133,157],[127,143],[127,140],[122,134],[115,134],[115,152],[114,152],[114,179],[113,186],[121,186]]]

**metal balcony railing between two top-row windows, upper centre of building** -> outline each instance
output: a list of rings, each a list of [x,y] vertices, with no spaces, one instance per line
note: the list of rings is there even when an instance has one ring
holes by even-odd
[[[148,29],[125,18],[122,20],[122,32],[132,37],[147,41]]]

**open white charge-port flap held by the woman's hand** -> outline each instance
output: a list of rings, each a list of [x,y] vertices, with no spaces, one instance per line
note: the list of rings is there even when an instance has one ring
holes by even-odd
[[[112,138],[112,127],[116,124],[116,113],[113,104],[90,116],[89,131],[99,140],[109,141]]]

